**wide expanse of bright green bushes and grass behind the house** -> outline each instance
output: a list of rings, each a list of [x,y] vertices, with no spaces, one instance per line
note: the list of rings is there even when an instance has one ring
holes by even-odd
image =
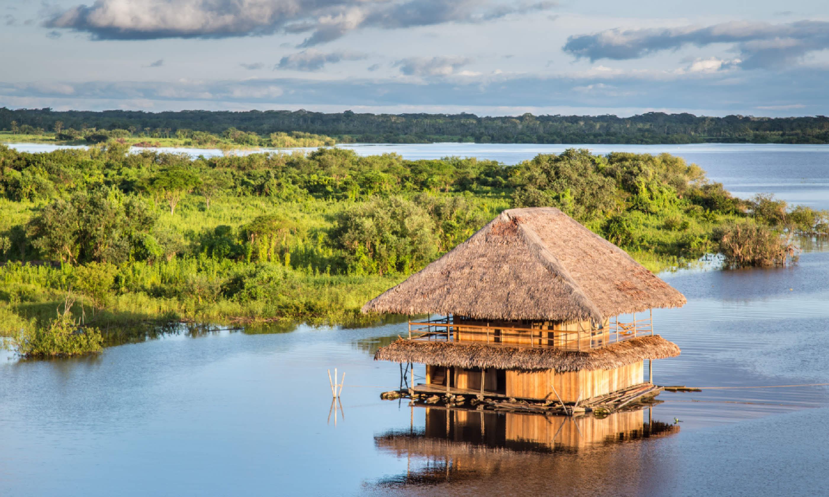
[[[784,263],[781,233],[829,230],[827,212],[736,199],[667,154],[569,149],[506,166],[338,148],[194,159],[115,141],[0,145],[0,334],[365,320],[364,302],[502,210],[541,205],[652,270],[717,251],[735,265]]]

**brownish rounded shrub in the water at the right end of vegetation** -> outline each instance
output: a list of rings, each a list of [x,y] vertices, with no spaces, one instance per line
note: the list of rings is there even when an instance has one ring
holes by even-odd
[[[714,230],[725,263],[731,267],[783,266],[794,262],[795,247],[765,226],[733,223]]]

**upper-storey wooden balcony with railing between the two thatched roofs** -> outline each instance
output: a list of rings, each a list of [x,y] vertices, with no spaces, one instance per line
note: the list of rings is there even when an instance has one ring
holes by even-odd
[[[570,324],[570,326],[573,326]],[[616,342],[638,336],[653,335],[652,316],[633,322],[620,322],[616,317],[609,326],[579,330],[542,330],[530,327],[507,327],[501,325],[467,324],[453,322],[451,316],[429,321],[409,321],[410,340],[439,340],[453,342],[475,342],[488,345],[509,345],[519,347],[549,347],[562,350],[598,349]]]

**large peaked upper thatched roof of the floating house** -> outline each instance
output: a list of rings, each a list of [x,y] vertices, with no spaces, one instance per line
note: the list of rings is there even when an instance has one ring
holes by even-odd
[[[363,312],[603,321],[685,297],[553,207],[505,210]]]

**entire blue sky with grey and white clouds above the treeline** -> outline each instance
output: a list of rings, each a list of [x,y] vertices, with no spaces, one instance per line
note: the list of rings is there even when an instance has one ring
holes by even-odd
[[[825,0],[0,0],[0,107],[829,114]]]

